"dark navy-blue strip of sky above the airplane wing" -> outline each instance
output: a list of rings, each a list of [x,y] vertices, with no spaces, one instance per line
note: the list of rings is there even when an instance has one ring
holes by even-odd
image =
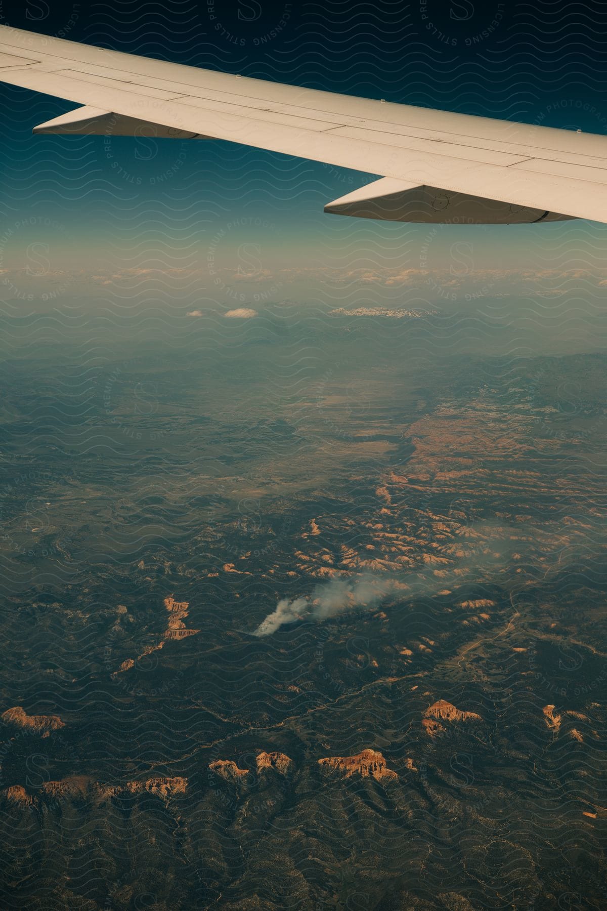
[[[2,0],[0,21],[116,50],[410,104],[605,116],[607,6],[498,0]],[[597,117],[579,110],[582,128]],[[604,129],[604,125],[603,125]]]

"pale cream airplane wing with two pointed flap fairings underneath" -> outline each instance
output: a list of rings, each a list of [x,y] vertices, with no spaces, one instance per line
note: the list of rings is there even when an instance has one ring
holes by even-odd
[[[380,179],[362,218],[607,223],[607,137],[336,95],[0,26],[0,81],[83,107],[35,133],[218,138]]]

